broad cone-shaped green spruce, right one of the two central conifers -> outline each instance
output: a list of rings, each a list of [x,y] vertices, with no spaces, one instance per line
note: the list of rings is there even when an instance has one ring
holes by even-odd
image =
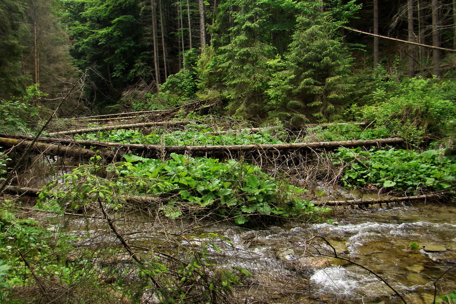
[[[328,12],[320,10],[321,2],[301,2],[298,8],[301,13],[289,53],[282,61],[270,62],[276,70],[267,93],[282,118],[285,112],[289,119],[302,118],[312,110],[316,119],[325,120],[353,87],[348,77],[350,57],[338,36],[337,24]]]

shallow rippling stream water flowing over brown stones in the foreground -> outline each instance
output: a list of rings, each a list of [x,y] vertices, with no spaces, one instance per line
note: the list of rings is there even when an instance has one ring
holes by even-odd
[[[86,233],[82,231],[84,227],[91,232],[85,245],[99,247],[97,234],[108,227],[102,219],[89,220],[71,217],[61,227],[82,235]],[[150,238],[150,231],[182,233],[182,227],[158,223],[156,218],[147,221],[139,216],[131,220],[138,233],[129,242],[138,246]],[[118,227],[124,232],[132,228],[131,222],[124,225],[120,221]],[[116,242],[112,235],[109,238]],[[179,242],[182,247],[194,248],[213,242],[216,246],[207,248],[218,267],[248,270],[251,276],[243,279],[244,285],[236,289],[236,294],[252,299],[249,303],[403,302],[366,270],[325,256],[332,255],[333,249],[340,257],[381,276],[409,304],[431,304],[435,282],[437,296],[452,292],[456,282],[456,268],[451,269],[456,264],[454,205],[414,203],[341,210],[332,216],[332,222],[288,223],[259,229],[207,223],[186,231]],[[167,252],[172,250],[175,248]]]

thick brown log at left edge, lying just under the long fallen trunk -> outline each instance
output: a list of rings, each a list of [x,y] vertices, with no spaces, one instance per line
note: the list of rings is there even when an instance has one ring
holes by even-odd
[[[31,143],[32,142],[29,140],[0,137],[0,146],[25,148]],[[34,142],[31,148],[32,150],[47,155],[72,157],[78,159],[88,159],[94,157],[96,154],[108,160],[112,160],[116,157],[116,151],[114,150],[84,149],[80,147],[66,146],[58,143]]]

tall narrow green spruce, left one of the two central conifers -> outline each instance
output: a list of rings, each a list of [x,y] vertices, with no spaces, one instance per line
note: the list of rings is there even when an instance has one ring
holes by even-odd
[[[230,104],[231,112],[241,117],[247,111],[258,113],[255,106],[263,103],[263,92],[270,80],[267,63],[276,53],[264,30],[270,18],[264,3],[232,0],[231,7],[236,9],[230,12],[233,18],[230,43],[218,49],[217,69],[222,71],[226,96],[234,100]]]

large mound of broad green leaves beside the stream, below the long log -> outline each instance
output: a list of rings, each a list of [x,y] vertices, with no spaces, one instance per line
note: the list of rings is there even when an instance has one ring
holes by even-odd
[[[304,189],[235,160],[222,163],[177,154],[167,161],[134,155],[124,158],[126,162],[103,168],[113,175],[110,179],[98,176],[101,168],[97,165],[80,166],[63,176],[63,184],[48,184],[40,201],[78,209],[101,199],[118,208],[124,201],[122,195],[153,195],[166,216],[179,217],[193,210],[196,215],[213,214],[238,224],[250,217],[298,217],[314,210],[309,201],[298,198]]]

